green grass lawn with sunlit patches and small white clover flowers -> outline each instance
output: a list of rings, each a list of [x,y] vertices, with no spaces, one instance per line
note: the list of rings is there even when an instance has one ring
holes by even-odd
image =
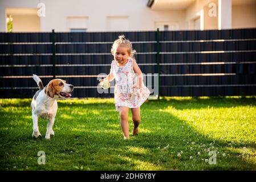
[[[58,101],[55,136],[44,139],[39,119],[43,136],[33,139],[30,102],[0,100],[1,170],[256,170],[256,97],[150,100],[130,140],[113,99],[96,98]],[[131,111],[129,123],[131,133]]]

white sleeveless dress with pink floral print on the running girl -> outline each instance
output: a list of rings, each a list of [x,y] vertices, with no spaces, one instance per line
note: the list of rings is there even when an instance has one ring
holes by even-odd
[[[133,71],[133,59],[128,58],[123,67],[118,67],[116,61],[112,61],[110,72],[116,81],[115,105],[117,111],[119,111],[119,106],[140,107],[147,100],[150,91],[143,82],[141,83],[141,89],[133,88],[138,80],[136,73]]]

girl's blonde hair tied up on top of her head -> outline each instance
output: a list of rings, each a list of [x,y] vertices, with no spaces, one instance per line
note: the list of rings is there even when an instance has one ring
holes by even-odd
[[[126,39],[124,35],[120,35],[120,36],[118,36],[118,38],[119,39],[116,39],[112,45],[112,48],[111,48],[112,55],[114,55],[114,52],[117,47],[119,47],[121,44],[124,44],[128,48],[127,52],[129,54],[129,56],[132,58],[135,58],[136,51],[132,48],[132,43],[128,39]]]

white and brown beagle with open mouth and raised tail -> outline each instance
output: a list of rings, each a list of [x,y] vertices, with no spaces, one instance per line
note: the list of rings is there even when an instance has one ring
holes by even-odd
[[[46,87],[37,75],[33,75],[39,90],[35,93],[32,102],[32,119],[33,119],[33,134],[32,137],[42,137],[38,129],[38,117],[47,119],[46,139],[50,139],[50,135],[54,135],[52,125],[54,125],[55,116],[58,110],[56,100],[66,99],[71,97],[71,92],[74,89],[73,85],[66,84],[65,80],[51,80]]]

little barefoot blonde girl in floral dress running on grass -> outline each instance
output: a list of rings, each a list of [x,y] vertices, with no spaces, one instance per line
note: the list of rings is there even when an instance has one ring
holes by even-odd
[[[140,106],[150,94],[149,89],[143,84],[143,74],[133,57],[135,52],[131,42],[125,39],[124,35],[119,36],[112,45],[111,53],[115,60],[112,61],[110,73],[105,78],[108,81],[115,78],[116,81],[115,105],[120,113],[124,139],[129,139],[129,108],[132,110],[132,135],[137,135],[140,125]]]

